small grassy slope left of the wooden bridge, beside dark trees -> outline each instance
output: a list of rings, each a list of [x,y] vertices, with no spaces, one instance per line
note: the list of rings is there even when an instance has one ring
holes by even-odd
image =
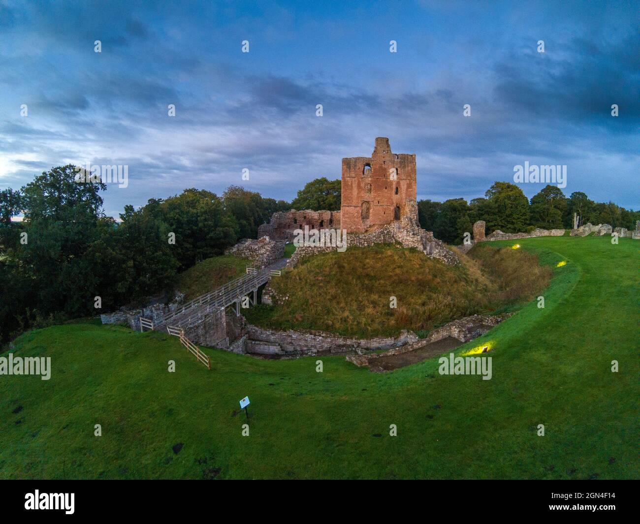
[[[191,300],[243,276],[251,265],[251,260],[233,255],[206,258],[181,273],[175,287],[185,294],[185,300]]]

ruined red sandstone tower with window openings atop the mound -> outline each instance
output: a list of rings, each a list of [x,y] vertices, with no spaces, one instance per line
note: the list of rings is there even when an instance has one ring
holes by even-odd
[[[371,157],[342,159],[340,221],[349,233],[374,230],[408,215],[417,221],[416,196],[415,154],[393,153],[388,138],[376,138]]]

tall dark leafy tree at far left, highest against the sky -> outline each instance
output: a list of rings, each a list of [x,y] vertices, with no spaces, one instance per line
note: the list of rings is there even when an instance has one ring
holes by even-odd
[[[103,220],[101,182],[77,182],[72,165],[52,168],[22,188],[26,243],[17,244],[15,276],[29,282],[29,306],[40,315],[94,312],[101,268],[86,260]]]

